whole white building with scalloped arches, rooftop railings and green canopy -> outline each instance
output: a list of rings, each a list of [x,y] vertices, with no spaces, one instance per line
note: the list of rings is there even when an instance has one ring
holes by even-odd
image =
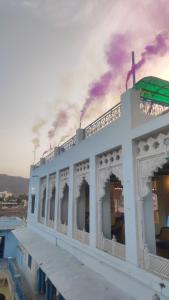
[[[144,78],[31,167],[14,234],[41,299],[169,299],[167,101],[169,82]]]

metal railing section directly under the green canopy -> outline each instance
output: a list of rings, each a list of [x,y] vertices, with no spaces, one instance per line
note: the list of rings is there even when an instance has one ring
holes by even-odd
[[[169,112],[169,107],[166,107],[166,106],[163,106],[160,104],[155,104],[155,103],[152,103],[151,101],[146,102],[146,101],[141,100],[140,101],[140,110],[145,115],[157,117],[164,113]]]

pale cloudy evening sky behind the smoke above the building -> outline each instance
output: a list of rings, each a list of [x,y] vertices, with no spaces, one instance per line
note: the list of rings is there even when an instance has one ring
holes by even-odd
[[[139,60],[168,28],[168,0],[0,0],[0,173],[28,177],[32,140],[38,161],[50,144],[75,134],[91,86],[110,69],[116,35],[125,40],[126,60],[87,108],[82,127],[120,101],[131,51]],[[168,64],[167,51],[150,57],[137,80],[169,80]]]

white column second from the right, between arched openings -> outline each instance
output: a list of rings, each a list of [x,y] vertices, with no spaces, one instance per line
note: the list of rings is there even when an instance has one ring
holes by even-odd
[[[90,246],[96,247],[96,158],[91,156],[90,164]]]

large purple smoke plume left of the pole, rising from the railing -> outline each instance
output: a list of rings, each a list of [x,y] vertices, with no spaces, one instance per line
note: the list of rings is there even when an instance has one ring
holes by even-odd
[[[81,110],[81,120],[90,104],[105,96],[112,87],[113,80],[121,73],[124,65],[129,59],[127,46],[127,35],[116,34],[112,36],[108,48],[105,51],[109,70],[102,74],[98,81],[91,83],[89,86],[88,96]]]

